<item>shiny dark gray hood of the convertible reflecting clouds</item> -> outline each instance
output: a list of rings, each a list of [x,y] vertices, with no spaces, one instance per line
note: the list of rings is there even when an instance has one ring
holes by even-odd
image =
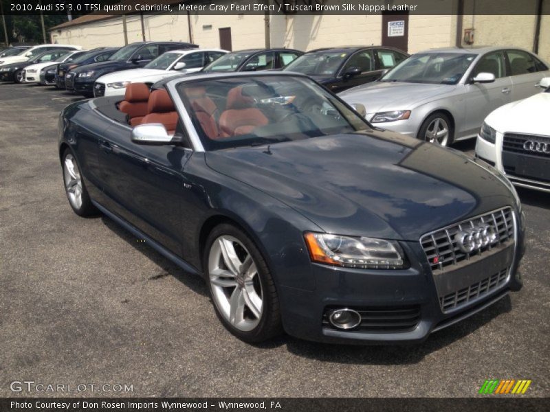
[[[465,156],[389,131],[207,152],[206,162],[329,233],[418,240],[513,204],[498,177]]]

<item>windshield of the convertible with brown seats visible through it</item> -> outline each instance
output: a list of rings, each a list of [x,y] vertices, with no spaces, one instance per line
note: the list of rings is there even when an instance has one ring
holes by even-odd
[[[178,91],[206,150],[271,145],[369,128],[364,119],[307,78],[207,78],[182,82]]]

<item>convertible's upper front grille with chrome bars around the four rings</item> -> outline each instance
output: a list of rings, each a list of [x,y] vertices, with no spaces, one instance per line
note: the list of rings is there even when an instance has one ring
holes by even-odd
[[[482,247],[472,253],[461,251],[456,242],[456,233],[463,229],[478,227],[481,225],[492,226],[498,233],[498,240],[493,244]],[[430,263],[432,272],[441,272],[447,266],[458,265],[469,260],[474,255],[489,255],[492,249],[507,242],[514,241],[514,216],[510,207],[476,216],[469,220],[444,227],[420,238],[420,243],[426,258]]]

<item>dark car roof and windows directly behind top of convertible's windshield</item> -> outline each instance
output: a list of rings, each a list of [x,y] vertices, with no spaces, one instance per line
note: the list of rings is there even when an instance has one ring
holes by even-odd
[[[304,52],[294,49],[248,49],[221,56],[202,69],[203,72],[261,71],[281,69],[302,56]]]

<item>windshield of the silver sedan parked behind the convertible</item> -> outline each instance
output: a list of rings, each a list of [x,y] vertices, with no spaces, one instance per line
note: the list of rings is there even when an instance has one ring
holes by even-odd
[[[475,58],[476,54],[415,54],[386,73],[380,81],[456,84]]]

